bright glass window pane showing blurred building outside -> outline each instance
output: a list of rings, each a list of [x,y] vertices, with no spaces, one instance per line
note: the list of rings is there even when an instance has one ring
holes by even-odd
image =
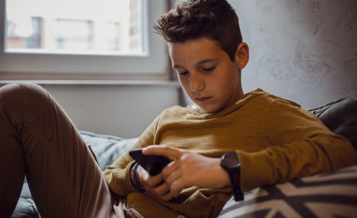
[[[6,50],[144,52],[142,0],[9,0]]]

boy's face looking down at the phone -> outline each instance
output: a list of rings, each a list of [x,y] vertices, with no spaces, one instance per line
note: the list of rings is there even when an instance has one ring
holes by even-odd
[[[242,98],[240,70],[216,41],[200,38],[168,47],[181,86],[203,111],[219,112]]]

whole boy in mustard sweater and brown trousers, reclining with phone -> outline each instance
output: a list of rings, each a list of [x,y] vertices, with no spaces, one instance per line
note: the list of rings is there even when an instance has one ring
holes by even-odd
[[[149,176],[125,153],[103,177],[91,150],[45,90],[5,86],[0,216],[11,214],[25,171],[43,217],[215,217],[232,188],[241,200],[242,191],[254,187],[357,163],[345,138],[296,103],[260,89],[243,93],[240,75],[249,50],[225,0],[180,3],[156,30],[194,104],[165,110],[132,149],[173,161]]]

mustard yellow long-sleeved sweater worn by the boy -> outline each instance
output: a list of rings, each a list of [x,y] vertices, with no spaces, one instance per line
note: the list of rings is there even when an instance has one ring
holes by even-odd
[[[295,177],[357,164],[350,142],[329,131],[298,104],[260,89],[217,114],[195,105],[165,110],[132,147],[170,145],[209,157],[237,151],[241,187],[247,191]],[[104,171],[110,189],[144,217],[216,217],[232,196],[230,187],[184,189],[165,202],[139,193],[130,180],[133,159],[125,153]]]

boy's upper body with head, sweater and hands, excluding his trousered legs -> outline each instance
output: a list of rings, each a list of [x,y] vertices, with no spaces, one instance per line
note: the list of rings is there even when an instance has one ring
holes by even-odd
[[[225,0],[177,4],[155,29],[194,104],[165,110],[132,148],[173,159],[161,174],[149,176],[128,154],[104,172],[110,189],[143,216],[215,217],[231,184],[239,199],[240,189],[357,163],[349,142],[298,104],[260,89],[243,93],[249,49]],[[226,152],[241,165],[231,179],[220,166]]]

